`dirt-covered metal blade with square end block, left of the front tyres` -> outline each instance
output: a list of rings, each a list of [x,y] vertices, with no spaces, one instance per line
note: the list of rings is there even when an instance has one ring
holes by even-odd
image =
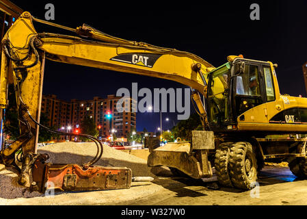
[[[148,166],[168,166],[184,172],[193,179],[210,178],[213,175],[208,160],[209,149],[215,149],[212,131],[192,131],[190,142],[168,143],[164,146],[149,145]]]

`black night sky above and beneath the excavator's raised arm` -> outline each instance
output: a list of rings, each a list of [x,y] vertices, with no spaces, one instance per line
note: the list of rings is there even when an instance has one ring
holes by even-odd
[[[44,19],[46,3],[55,5],[53,23],[79,27],[86,23],[112,36],[188,51],[217,67],[228,55],[271,61],[282,94],[306,95],[302,64],[307,62],[307,1],[15,1]],[[33,2],[33,3],[31,3]],[[260,5],[260,21],[250,19],[250,5]],[[34,23],[38,32],[73,33]],[[92,99],[119,88],[187,88],[173,81],[46,60],[44,94],[59,99]],[[192,106],[191,106],[192,108]],[[176,114],[163,114],[163,129]],[[159,113],[137,113],[137,131],[155,131]]]

